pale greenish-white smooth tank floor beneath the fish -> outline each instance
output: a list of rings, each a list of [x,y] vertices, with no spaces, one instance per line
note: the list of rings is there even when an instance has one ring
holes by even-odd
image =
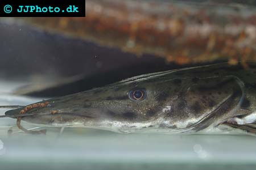
[[[255,164],[256,160],[256,146],[251,145],[255,138],[250,136],[122,135],[76,128],[67,128],[59,136],[59,130],[48,129],[47,135],[4,135],[1,139],[6,151],[1,160],[77,162],[77,166],[97,163],[103,167],[109,163],[241,165]]]

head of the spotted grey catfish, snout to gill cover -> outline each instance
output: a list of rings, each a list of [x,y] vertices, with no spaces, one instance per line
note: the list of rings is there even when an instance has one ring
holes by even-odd
[[[43,103],[47,105],[28,109],[26,114],[31,116],[22,120],[120,133],[145,129],[175,132],[198,125],[220,108],[230,111],[241,98],[242,84],[234,77],[160,74],[46,100]],[[6,115],[22,110],[7,111]]]

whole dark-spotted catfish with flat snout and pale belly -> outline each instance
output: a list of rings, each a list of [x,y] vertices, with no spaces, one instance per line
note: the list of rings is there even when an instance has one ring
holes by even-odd
[[[256,64],[228,63],[135,76],[18,107],[2,117],[118,133],[256,134]]]

